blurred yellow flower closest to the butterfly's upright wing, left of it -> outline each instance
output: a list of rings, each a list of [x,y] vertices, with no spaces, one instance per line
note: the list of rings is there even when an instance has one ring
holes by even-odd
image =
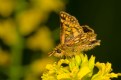
[[[40,49],[45,53],[54,46],[53,44],[54,42],[51,38],[51,32],[46,26],[39,28],[38,32],[27,40],[27,46],[29,48],[34,50]]]

